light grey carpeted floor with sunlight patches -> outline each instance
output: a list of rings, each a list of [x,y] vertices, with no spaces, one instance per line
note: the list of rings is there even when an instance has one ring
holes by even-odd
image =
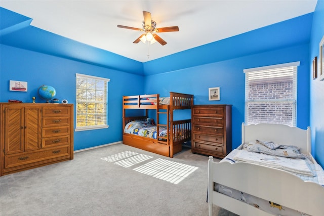
[[[189,148],[174,158],[121,143],[77,152],[0,177],[0,215],[208,215],[207,169]]]

